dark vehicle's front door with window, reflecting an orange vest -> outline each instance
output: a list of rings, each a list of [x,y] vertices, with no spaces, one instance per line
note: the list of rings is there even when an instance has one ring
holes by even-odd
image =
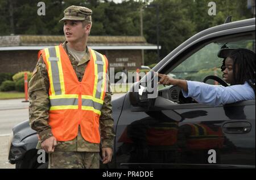
[[[224,45],[255,51],[255,31],[204,41],[160,73],[222,77],[217,53]],[[214,107],[182,97],[175,86],[158,89],[150,108],[131,105],[126,95],[115,140],[118,168],[255,168],[255,101]]]

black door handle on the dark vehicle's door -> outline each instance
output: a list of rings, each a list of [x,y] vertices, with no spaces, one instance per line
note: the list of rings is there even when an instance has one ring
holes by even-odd
[[[231,122],[222,126],[223,132],[229,134],[248,133],[251,131],[251,124],[248,122]]]

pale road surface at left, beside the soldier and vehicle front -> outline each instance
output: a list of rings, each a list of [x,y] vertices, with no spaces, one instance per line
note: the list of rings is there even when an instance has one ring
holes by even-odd
[[[114,94],[112,99],[123,94]],[[24,99],[0,100],[0,169],[15,168],[8,162],[7,147],[14,125],[28,119],[28,102]]]

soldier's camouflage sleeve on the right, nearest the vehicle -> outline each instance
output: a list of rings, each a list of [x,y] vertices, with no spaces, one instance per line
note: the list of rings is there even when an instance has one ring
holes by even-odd
[[[108,78],[109,79],[109,78]],[[112,118],[112,91],[108,81],[108,89],[106,90],[104,103],[100,116],[100,130],[101,130],[101,145],[102,148],[113,148],[114,144],[114,120]]]

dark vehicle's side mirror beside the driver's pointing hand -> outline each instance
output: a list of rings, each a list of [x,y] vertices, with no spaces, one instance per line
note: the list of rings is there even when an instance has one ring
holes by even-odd
[[[158,97],[158,73],[148,72],[141,81],[135,82],[129,91],[133,106],[150,108]]]

